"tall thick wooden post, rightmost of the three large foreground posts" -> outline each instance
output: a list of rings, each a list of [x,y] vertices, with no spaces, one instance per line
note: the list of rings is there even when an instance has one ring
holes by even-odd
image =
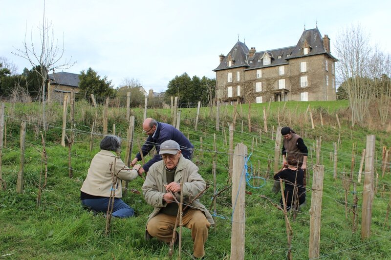
[[[368,239],[370,236],[370,224],[372,217],[373,200],[373,174],[375,155],[375,136],[367,136],[367,147],[365,152],[365,172],[363,185],[363,209],[361,213],[361,239]]]

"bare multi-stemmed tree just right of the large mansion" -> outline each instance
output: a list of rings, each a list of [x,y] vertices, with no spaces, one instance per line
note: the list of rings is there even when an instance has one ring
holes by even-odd
[[[344,88],[349,100],[351,125],[366,125],[370,108],[380,97],[386,107],[379,107],[381,111],[378,112],[382,121],[387,120],[384,110],[388,111],[390,99],[384,98],[384,93],[379,95],[378,90],[381,75],[390,75],[390,71],[387,72],[389,58],[370,46],[369,35],[360,25],[351,25],[340,33],[335,49],[340,60],[336,67],[338,81],[343,83],[340,87]]]

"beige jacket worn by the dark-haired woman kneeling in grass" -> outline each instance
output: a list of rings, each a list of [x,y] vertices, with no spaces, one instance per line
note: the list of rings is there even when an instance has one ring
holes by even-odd
[[[119,157],[107,150],[101,150],[91,160],[86,180],[84,180],[80,190],[89,195],[110,197],[112,182],[110,173],[111,163],[113,164],[113,172],[118,176],[114,187],[115,198],[122,198],[121,180],[135,179],[137,177],[137,171],[130,170]]]

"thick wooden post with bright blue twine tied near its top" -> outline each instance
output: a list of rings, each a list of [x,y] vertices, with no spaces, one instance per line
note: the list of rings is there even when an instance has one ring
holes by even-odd
[[[235,146],[232,172],[232,229],[231,229],[231,260],[244,259],[245,231],[245,188],[246,174],[244,160],[247,156],[247,146],[238,143]]]

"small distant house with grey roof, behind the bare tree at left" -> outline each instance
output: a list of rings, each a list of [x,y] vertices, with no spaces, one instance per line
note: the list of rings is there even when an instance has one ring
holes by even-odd
[[[79,74],[69,72],[54,72],[49,74],[49,83],[47,84],[47,100],[63,101],[65,95],[73,90],[74,94],[79,93]],[[69,101],[68,97],[68,101]]]

